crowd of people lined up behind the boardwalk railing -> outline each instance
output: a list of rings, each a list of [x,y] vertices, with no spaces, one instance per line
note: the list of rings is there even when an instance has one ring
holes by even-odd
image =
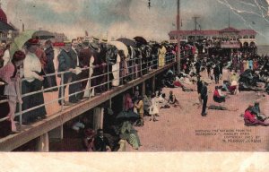
[[[124,48],[111,42],[93,37],[91,41],[72,39],[65,41],[62,47],[54,47],[50,39],[32,38],[15,53],[11,52],[10,44],[2,47],[0,94],[9,104],[2,105],[8,111],[5,115],[13,116],[10,120],[12,124],[16,123],[14,119],[18,119],[14,114],[20,110],[20,106],[16,106],[19,102],[22,125],[30,125],[47,116],[44,92],[58,92],[58,104],[70,106],[176,60],[176,45],[168,42],[137,41],[135,46],[125,45]],[[16,62],[18,55],[24,58]],[[65,96],[67,86],[68,96]],[[14,127],[12,131],[18,132]]]

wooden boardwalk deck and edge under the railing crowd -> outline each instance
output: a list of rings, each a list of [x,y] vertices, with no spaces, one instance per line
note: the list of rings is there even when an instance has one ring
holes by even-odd
[[[65,124],[65,122],[73,119],[74,117],[80,116],[82,113],[90,110],[91,108],[99,106],[103,102],[112,99],[118,94],[151,79],[156,74],[168,70],[176,64],[177,62],[167,64],[164,67],[154,70],[152,73],[145,74],[132,82],[126,83],[125,85],[120,85],[118,87],[112,88],[111,90],[108,90],[98,96],[92,97],[91,99],[85,99],[78,104],[74,104],[73,106],[65,107],[63,111],[60,111],[61,107],[57,104],[57,102],[50,104],[46,106],[48,113],[48,117],[46,119],[32,125],[28,125],[27,127],[22,127],[21,133],[11,134],[0,139],[0,150],[14,150],[26,142],[30,142],[40,135],[48,133],[56,127]],[[53,99],[57,99],[57,92],[45,93],[45,102],[51,101]]]

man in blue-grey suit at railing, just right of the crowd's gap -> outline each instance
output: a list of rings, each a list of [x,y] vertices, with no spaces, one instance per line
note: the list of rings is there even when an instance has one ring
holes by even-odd
[[[64,73],[63,74],[63,78],[61,78],[61,85],[62,84],[66,84],[69,82],[73,82],[73,78],[74,78],[74,68],[76,66],[76,59],[73,59],[74,56],[71,56],[70,54],[70,50],[71,50],[71,42],[70,41],[65,41],[65,46],[64,48],[61,50],[60,54],[57,56],[58,57],[58,72],[68,72],[69,73]],[[59,77],[61,77],[62,75],[59,74]],[[62,103],[64,102],[65,106],[70,105],[70,103],[65,102],[65,86],[61,86],[59,89],[59,94],[58,94],[58,103],[60,105],[62,105]],[[62,89],[63,90],[63,95],[62,95]],[[74,88],[74,84],[71,84],[69,86],[69,94],[73,94],[75,92],[75,88]],[[61,98],[63,100],[61,100]],[[75,102],[75,96],[70,96],[69,97],[69,102]]]

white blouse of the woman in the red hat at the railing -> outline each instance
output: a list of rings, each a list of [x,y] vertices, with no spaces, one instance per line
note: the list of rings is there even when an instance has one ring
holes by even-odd
[[[35,73],[37,72],[37,73]],[[33,53],[28,52],[23,61],[23,74],[28,82],[33,82],[39,78],[41,72],[41,63],[39,57]]]

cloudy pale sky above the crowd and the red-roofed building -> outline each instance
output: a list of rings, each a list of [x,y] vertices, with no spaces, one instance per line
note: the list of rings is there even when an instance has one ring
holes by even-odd
[[[22,29],[64,32],[69,39],[90,35],[169,39],[175,30],[177,0],[1,0],[8,22]],[[269,0],[181,0],[182,30],[193,30],[192,17],[203,30],[253,29],[258,44],[269,44]]]

